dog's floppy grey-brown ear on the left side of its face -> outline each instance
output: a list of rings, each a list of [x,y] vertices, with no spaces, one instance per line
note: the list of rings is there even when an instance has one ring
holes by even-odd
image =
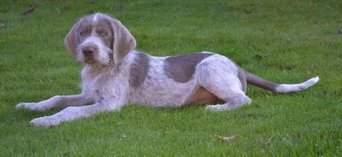
[[[81,23],[81,20],[79,20],[73,26],[73,28],[70,29],[68,35],[66,35],[66,37],[64,39],[64,46],[66,46],[66,48],[68,48],[68,51],[73,53],[73,55],[77,55],[76,48],[77,48],[77,45],[79,44],[79,42],[77,40],[77,35],[78,35],[77,31],[79,28],[79,23]]]

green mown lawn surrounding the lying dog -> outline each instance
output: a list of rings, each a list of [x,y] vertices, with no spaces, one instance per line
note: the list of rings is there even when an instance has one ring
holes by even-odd
[[[38,8],[27,16],[29,5]],[[2,1],[0,156],[342,156],[342,2]],[[321,81],[295,94],[248,86],[234,111],[127,105],[52,128],[28,126],[53,111],[16,110],[77,94],[79,72],[63,41],[93,12],[121,20],[151,55],[212,51],[270,81]],[[220,141],[213,134],[231,136]]]

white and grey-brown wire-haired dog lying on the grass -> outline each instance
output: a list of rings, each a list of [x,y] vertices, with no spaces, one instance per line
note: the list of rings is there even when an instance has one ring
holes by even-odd
[[[41,102],[21,102],[17,109],[44,111],[61,108],[51,116],[38,117],[33,126],[56,126],[90,117],[101,111],[119,111],[125,104],[179,107],[207,105],[209,111],[236,109],[252,100],[247,83],[278,93],[302,91],[319,81],[276,84],[246,72],[222,55],[210,52],[154,57],[135,51],[135,38],[119,20],[105,14],[85,16],[70,29],[64,45],[85,67],[82,92],[53,96]],[[88,104],[88,105],[87,105]]]

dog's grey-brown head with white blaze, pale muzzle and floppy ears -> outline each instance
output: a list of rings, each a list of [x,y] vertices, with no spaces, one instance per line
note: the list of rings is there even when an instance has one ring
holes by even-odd
[[[80,63],[118,64],[133,48],[135,39],[119,20],[96,13],[81,18],[70,29],[64,45]]]

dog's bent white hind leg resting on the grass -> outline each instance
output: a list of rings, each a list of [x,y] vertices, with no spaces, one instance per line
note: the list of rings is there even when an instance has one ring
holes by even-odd
[[[250,104],[252,100],[245,94],[246,87],[244,85],[246,79],[239,78],[239,68],[235,65],[230,65],[229,68],[227,65],[218,66],[212,64],[198,66],[198,73],[196,74],[198,84],[226,103],[208,105],[206,109],[224,111]]]

